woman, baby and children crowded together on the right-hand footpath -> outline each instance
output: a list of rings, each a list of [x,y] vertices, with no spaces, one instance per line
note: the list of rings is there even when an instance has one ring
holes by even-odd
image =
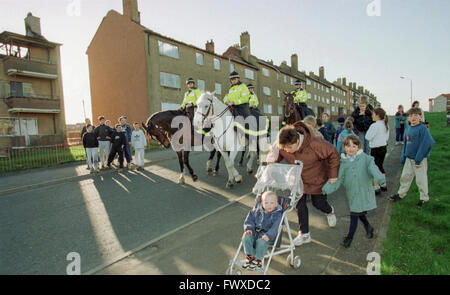
[[[429,201],[427,157],[434,145],[434,140],[428,128],[423,124],[423,111],[417,106],[417,104],[413,104],[406,114],[399,106],[396,114],[395,127],[400,129],[396,132],[396,144],[398,142],[403,144],[400,160],[404,166],[398,193],[388,199],[391,201],[402,200],[415,177],[420,192],[420,201],[417,206],[421,208]],[[327,121],[327,118],[324,121]],[[371,109],[363,97],[359,108],[355,110],[352,117],[340,121],[343,122],[340,122],[342,128],[337,130],[335,152],[329,149],[329,142],[321,140],[322,147],[319,147],[317,140],[312,140],[313,137],[326,139],[325,135],[328,133],[326,128],[321,126],[322,122],[315,120],[314,117],[306,117],[304,123],[297,122],[280,130],[278,140],[272,145],[267,157],[268,164],[280,162],[283,159],[288,164],[293,164],[295,160],[301,160],[304,164],[302,181],[305,192],[297,205],[300,231],[297,238],[294,239],[296,246],[311,241],[306,209],[307,195],[311,195],[312,203],[316,208],[326,213],[329,225],[332,227],[335,225],[336,219],[335,217],[331,218],[331,220],[334,219],[334,223],[330,222],[330,216],[334,216],[334,209],[327,203],[326,196],[337,191],[341,185],[346,189],[350,208],[349,230],[341,245],[346,248],[350,247],[358,220],[363,223],[367,238],[374,236],[374,228],[366,215],[368,211],[377,207],[375,195],[379,194],[380,190],[387,190],[383,161],[389,139],[388,117],[381,108]],[[355,123],[356,130],[354,122],[358,122]],[[371,123],[369,124],[369,122]],[[321,128],[325,130],[321,131]],[[404,140],[402,138],[403,131]],[[361,134],[364,139],[361,138]],[[334,160],[336,154],[341,155],[337,167]],[[323,175],[319,171],[315,171],[316,177],[312,179],[311,171],[317,168],[320,170],[322,164],[327,165],[328,171],[324,171],[327,178],[323,179]],[[336,171],[338,171],[337,175],[335,175]],[[322,194],[313,192],[312,186],[320,187]],[[274,231],[278,229],[282,216],[281,207],[276,200],[275,193],[266,192],[263,195],[262,206],[256,206],[244,222],[243,241],[247,260],[244,267],[260,266],[265,251],[276,238]]]

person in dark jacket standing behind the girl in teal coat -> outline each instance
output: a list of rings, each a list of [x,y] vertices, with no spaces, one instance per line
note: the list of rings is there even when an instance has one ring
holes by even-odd
[[[368,98],[366,96],[361,96],[359,107],[352,113],[352,117],[355,119],[353,125],[356,130],[358,130],[358,136],[363,144],[363,150],[368,155],[370,155],[370,146],[369,141],[366,139],[366,132],[373,123],[371,108],[372,106],[369,104]]]

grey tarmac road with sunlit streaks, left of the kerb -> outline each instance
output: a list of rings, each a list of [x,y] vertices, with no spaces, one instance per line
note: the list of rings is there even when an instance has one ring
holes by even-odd
[[[103,173],[0,196],[0,273],[65,274],[70,252],[80,254],[84,273],[250,191],[248,177],[225,189],[223,162],[217,177],[208,176],[207,157],[192,155],[200,177],[195,185],[190,177],[176,183],[178,161],[171,159],[144,172]]]

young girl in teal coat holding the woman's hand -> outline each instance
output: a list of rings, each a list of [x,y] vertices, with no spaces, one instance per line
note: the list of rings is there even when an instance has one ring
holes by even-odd
[[[374,228],[366,217],[367,211],[377,207],[372,179],[384,185],[386,178],[375,165],[373,157],[363,152],[361,141],[356,135],[347,136],[343,146],[345,154],[341,156],[338,181],[334,184],[327,182],[322,193],[331,194],[337,191],[341,184],[345,187],[350,207],[350,228],[342,246],[348,248],[358,227],[358,219],[364,224],[367,237],[373,237]]]

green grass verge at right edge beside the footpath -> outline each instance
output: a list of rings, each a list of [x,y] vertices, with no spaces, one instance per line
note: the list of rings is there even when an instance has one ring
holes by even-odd
[[[444,112],[425,117],[436,141],[428,159],[430,201],[417,208],[414,181],[405,199],[393,204],[382,274],[450,274],[450,127]]]

